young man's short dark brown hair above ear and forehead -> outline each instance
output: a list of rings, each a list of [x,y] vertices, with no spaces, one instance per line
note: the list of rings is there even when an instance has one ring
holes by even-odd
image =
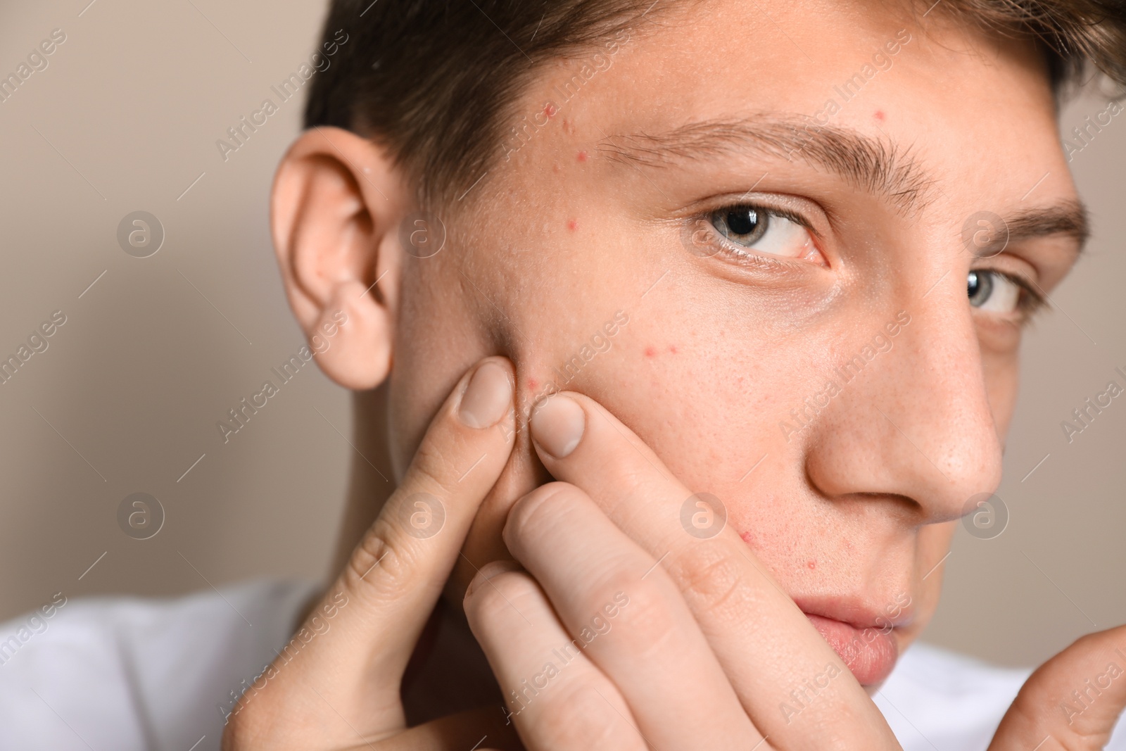
[[[931,0],[932,1],[932,0]],[[506,125],[552,59],[578,56],[626,28],[706,0],[332,0],[331,42],[305,127],[336,126],[388,152],[423,206],[449,206],[504,154]],[[930,1],[924,3],[930,6]],[[1126,86],[1124,0],[940,0],[940,12],[1033,38],[1057,92],[1094,69]],[[640,18],[645,16],[644,19]]]

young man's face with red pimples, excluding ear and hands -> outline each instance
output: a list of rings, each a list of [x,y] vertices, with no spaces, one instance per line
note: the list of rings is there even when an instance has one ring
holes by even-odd
[[[712,0],[540,71],[446,247],[405,258],[396,466],[507,355],[524,424],[546,391],[592,396],[723,501],[838,651],[838,622],[906,646],[1000,481],[1033,297],[1009,277],[1051,293],[1078,252],[1043,62],[940,11]],[[534,456],[521,428],[477,565]],[[846,661],[874,683],[869,658]]]

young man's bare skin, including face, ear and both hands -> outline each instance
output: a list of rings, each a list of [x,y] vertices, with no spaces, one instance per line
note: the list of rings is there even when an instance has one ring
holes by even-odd
[[[868,694],[1000,482],[1021,327],[1084,234],[1045,64],[896,3],[708,0],[614,38],[538,71],[511,111],[536,126],[436,209],[431,257],[401,244],[418,207],[376,143],[315,128],[283,161],[291,304],[310,337],[347,314],[319,363],[386,384],[397,489],[325,594],[350,605],[224,748],[899,748]],[[1003,250],[966,241],[978,212]],[[404,521],[420,492],[432,536]],[[695,493],[721,499],[714,536],[681,524]],[[440,714],[400,690],[439,596],[489,663],[446,654],[411,690],[472,707],[491,670],[507,717],[408,730]],[[991,749],[1101,748],[1126,682],[1072,725],[1057,705],[1124,644],[1046,663]]]

